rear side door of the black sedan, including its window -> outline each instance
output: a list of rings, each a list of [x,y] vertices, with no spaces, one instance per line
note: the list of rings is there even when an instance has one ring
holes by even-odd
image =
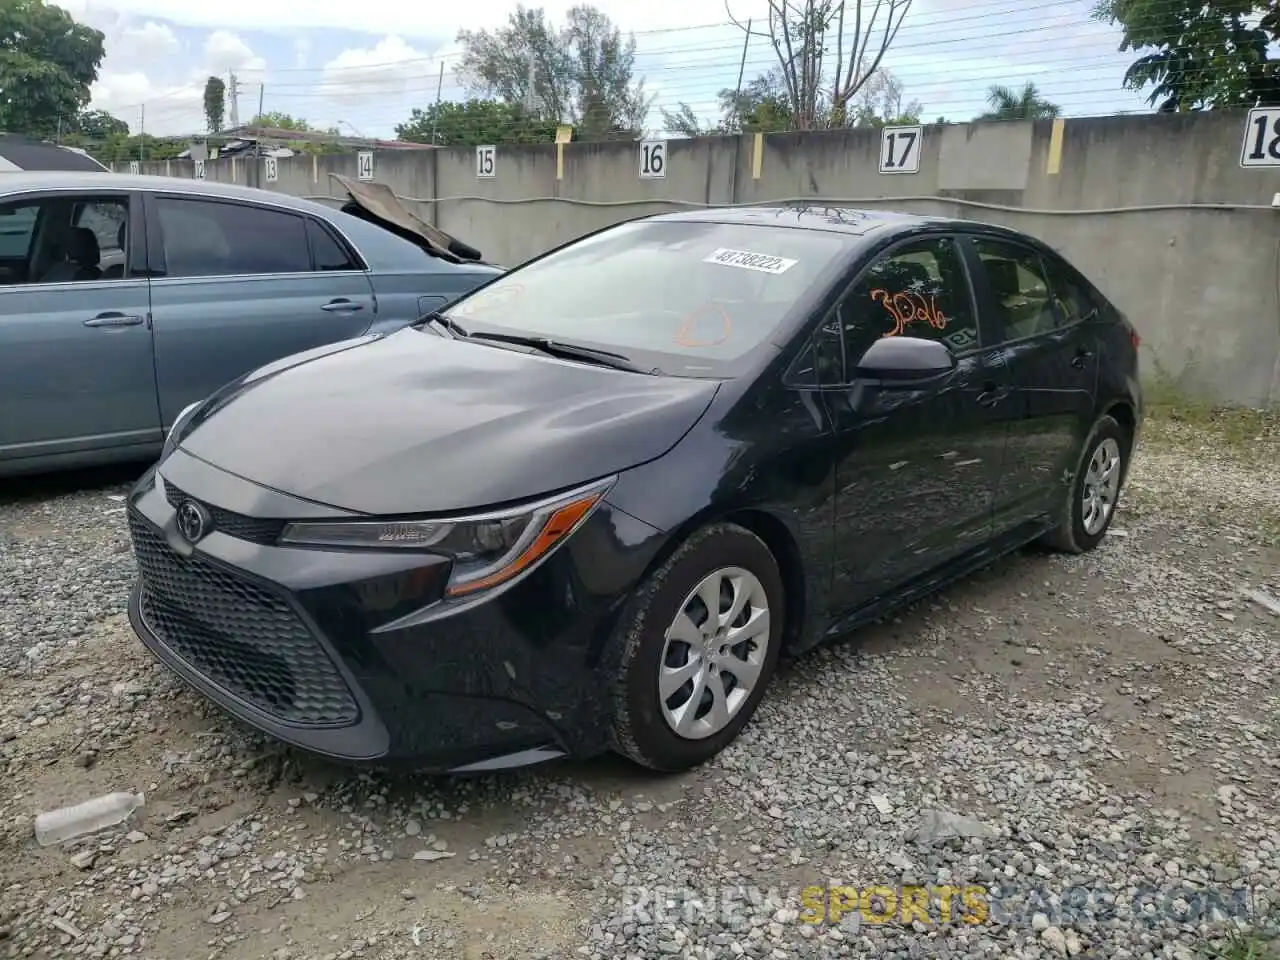
[[[1046,522],[1059,509],[1093,421],[1098,338],[1087,301],[1059,257],[996,236],[965,253],[978,303],[998,338],[1023,419],[1011,424],[993,532]]]

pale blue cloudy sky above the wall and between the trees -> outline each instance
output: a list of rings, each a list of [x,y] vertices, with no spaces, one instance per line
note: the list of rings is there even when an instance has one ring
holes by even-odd
[[[767,0],[728,3],[740,22],[763,22]],[[874,3],[863,0],[864,12]],[[140,127],[157,136],[200,133],[206,78],[234,72],[242,123],[261,102],[266,111],[358,137],[393,137],[397,123],[438,93],[466,96],[457,77],[458,31],[499,27],[515,8],[508,0],[59,5],[106,35],[91,106],[134,133]],[[571,3],[541,5],[558,23]],[[662,108],[687,102],[708,120],[717,115],[716,93],[735,86],[744,59],[744,33],[730,23],[724,0],[595,0],[595,6],[635,35],[636,76],[657,95],[650,133],[662,133]],[[1092,23],[1089,6],[1091,0],[911,0],[883,65],[929,122],[972,119],[986,109],[991,84],[1018,88],[1027,81],[1070,116],[1148,110],[1140,93],[1121,86],[1133,55],[1117,52],[1117,29]],[[751,38],[745,51],[748,78],[776,64],[764,38]]]

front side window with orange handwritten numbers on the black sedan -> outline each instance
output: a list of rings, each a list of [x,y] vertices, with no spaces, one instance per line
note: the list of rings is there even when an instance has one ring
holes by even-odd
[[[886,253],[837,307],[852,365],[877,337],[922,337],[961,353],[978,346],[969,278],[950,237],[914,241]]]

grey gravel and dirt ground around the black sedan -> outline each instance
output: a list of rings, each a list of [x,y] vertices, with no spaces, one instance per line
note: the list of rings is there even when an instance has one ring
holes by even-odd
[[[128,477],[0,488],[0,950],[1251,956],[1225,938],[1280,900],[1280,617],[1244,591],[1280,596],[1280,456],[1207,429],[1153,425],[1096,553],[1011,557],[785,667],[666,778],[280,749],[132,636]],[[146,805],[36,846],[37,810],[111,790]]]

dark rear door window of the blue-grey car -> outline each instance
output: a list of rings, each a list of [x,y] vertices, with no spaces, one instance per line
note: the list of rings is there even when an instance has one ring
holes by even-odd
[[[243,276],[311,270],[306,221],[216,200],[156,200],[166,276]]]

